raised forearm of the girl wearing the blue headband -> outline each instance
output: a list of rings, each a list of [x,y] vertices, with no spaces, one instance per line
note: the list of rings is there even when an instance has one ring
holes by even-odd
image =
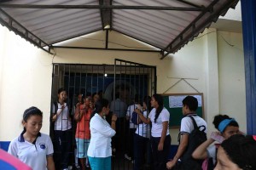
[[[213,139],[209,138],[204,143],[200,144],[193,152],[192,157],[195,159],[207,158],[207,148],[214,142]]]

